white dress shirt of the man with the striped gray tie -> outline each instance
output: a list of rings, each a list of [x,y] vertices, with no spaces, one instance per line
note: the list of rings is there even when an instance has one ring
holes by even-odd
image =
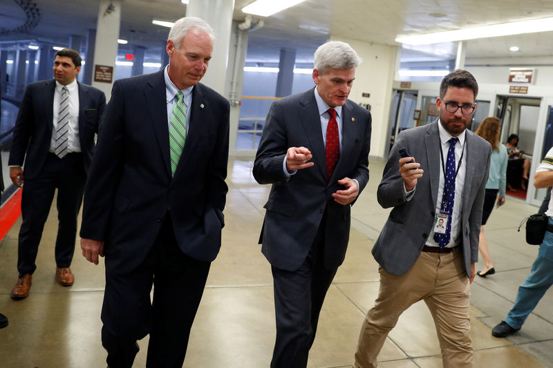
[[[50,138],[50,152],[55,152],[56,140],[55,134],[57,130],[57,120],[59,113],[59,99],[62,97],[63,84],[56,81],[54,90],[54,114],[53,114],[53,129],[52,137]],[[68,132],[68,152],[81,152],[81,142],[79,140],[79,85],[77,79],[72,81],[67,86],[69,96],[69,132]]]

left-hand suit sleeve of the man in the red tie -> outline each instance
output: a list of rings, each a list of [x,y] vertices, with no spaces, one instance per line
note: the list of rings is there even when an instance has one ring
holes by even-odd
[[[265,128],[263,128],[253,168],[254,178],[259,184],[282,183],[290,180],[290,177],[284,174],[282,167],[288,151],[288,139],[284,123],[279,118],[283,116],[281,110],[281,106],[273,102],[265,120]]]

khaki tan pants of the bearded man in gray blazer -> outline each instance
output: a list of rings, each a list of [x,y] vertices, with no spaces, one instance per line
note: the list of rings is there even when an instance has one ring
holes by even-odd
[[[426,302],[433,317],[444,368],[475,367],[469,320],[470,284],[461,246],[450,253],[421,252],[404,275],[392,275],[382,267],[379,273],[378,298],[359,333],[353,367],[377,367],[386,336],[400,315],[419,300]],[[413,338],[417,338],[416,331]]]

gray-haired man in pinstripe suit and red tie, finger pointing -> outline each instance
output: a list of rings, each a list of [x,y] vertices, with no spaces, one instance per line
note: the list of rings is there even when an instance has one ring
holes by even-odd
[[[254,177],[272,184],[260,242],[274,280],[274,368],[306,367],[346,254],[350,206],[368,182],[371,113],[348,99],[357,64],[347,43],[320,46],[317,87],[275,101],[259,143]]]

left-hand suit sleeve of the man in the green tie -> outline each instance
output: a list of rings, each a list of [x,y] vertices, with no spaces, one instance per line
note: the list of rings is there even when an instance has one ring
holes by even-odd
[[[115,81],[84,190],[81,238],[104,240],[106,237],[109,214],[122,172],[123,112],[124,93],[120,83]]]

